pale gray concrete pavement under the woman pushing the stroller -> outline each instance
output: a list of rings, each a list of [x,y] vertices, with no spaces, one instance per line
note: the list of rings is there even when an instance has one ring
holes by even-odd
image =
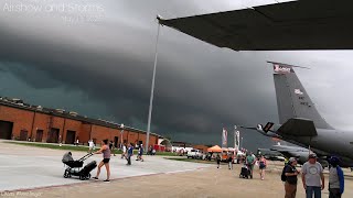
[[[0,193],[89,183],[87,180],[82,182],[74,176],[73,178],[63,177],[65,167],[62,163],[62,157],[67,151],[9,144],[3,141],[0,141]],[[72,153],[75,160],[87,154],[75,151]],[[96,161],[98,164],[101,160],[101,154],[97,154],[86,160],[85,164],[92,161]],[[145,156],[145,162],[139,162],[136,161],[135,155],[131,157],[131,166],[127,166],[127,161],[121,160],[120,155],[111,155],[110,179],[180,173],[210,167],[207,164],[169,161],[162,156]],[[97,168],[90,174],[95,176]],[[104,180],[105,178],[106,170],[103,167],[99,179]]]

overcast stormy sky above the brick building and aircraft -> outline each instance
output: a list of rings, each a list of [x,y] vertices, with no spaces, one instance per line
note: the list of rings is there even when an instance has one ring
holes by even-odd
[[[280,2],[280,1],[279,1]],[[0,96],[147,130],[156,15],[165,19],[274,0],[1,0]],[[234,52],[161,28],[152,131],[221,144],[222,128],[278,122],[266,61],[296,70],[321,114],[352,129],[351,51]],[[270,144],[240,131],[254,150]],[[229,146],[233,141],[229,141]]]

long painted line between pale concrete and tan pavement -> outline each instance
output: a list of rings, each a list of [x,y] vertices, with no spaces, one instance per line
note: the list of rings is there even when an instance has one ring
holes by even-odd
[[[145,174],[145,175],[127,176],[127,177],[121,177],[121,178],[114,178],[114,179],[110,179],[110,182],[126,180],[126,179],[130,179],[130,178],[149,177],[149,176],[157,176],[157,175],[178,174],[178,173],[185,173],[185,172],[199,170],[199,169],[204,169],[204,168],[207,168],[207,167],[197,167],[197,168],[184,169],[184,170],[174,170],[174,172],[165,172],[165,173],[151,173],[151,174]],[[101,180],[99,180],[99,182],[101,182]],[[41,189],[45,190],[45,189],[53,189],[53,188],[61,188],[61,187],[81,186],[81,185],[88,185],[88,184],[94,184],[94,183],[97,183],[97,180],[86,180],[86,182],[81,182],[81,183],[62,184],[62,185],[39,186],[39,187],[32,187],[32,188],[19,188],[19,189],[12,189],[12,190],[0,190],[0,195],[7,194],[7,193],[17,193],[17,191],[33,191],[33,190],[41,190]]]

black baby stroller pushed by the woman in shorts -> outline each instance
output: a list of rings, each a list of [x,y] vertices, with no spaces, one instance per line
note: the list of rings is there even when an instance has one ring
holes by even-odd
[[[82,168],[82,166],[84,165],[84,161],[90,157],[92,155],[93,153],[88,153],[87,155],[81,157],[79,160],[74,161],[71,152],[65,153],[62,162],[68,167],[64,172],[64,177],[69,178],[74,175],[74,176],[78,176],[81,180],[89,179],[90,172],[97,167],[96,161],[92,161],[84,168]]]

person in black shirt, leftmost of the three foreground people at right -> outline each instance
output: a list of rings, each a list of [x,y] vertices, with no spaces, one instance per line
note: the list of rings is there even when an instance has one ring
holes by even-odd
[[[285,183],[285,198],[295,198],[297,195],[297,184],[298,184],[298,175],[300,174],[299,170],[297,170],[297,160],[295,157],[290,157],[288,160],[288,164],[285,168],[285,176],[286,176],[286,183]]]

